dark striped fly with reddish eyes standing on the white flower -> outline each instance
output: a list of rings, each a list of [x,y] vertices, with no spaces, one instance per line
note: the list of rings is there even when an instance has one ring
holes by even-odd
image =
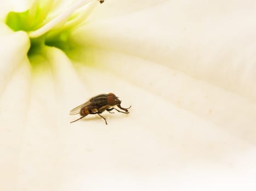
[[[99,94],[98,96],[90,98],[88,102],[72,109],[70,111],[70,115],[80,114],[82,117],[78,118],[75,121],[71,121],[70,123],[81,120],[83,117],[86,117],[88,114],[97,114],[101,118],[103,118],[105,120],[105,123],[107,124],[106,118],[100,115],[105,110],[110,112],[111,114],[114,113],[114,112],[111,112],[113,109],[123,114],[129,114],[128,109],[130,109],[132,105],[129,106],[129,108],[122,108],[120,105],[121,102],[122,101],[118,99],[118,97],[116,97],[115,94],[113,93]],[[118,108],[120,108],[121,110],[124,110],[125,112],[114,108],[114,106],[117,106]]]

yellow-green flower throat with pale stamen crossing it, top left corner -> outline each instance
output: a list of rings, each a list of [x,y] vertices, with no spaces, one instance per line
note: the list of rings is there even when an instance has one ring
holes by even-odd
[[[98,1],[103,3],[103,0]],[[65,52],[71,50],[73,43],[69,38],[70,32],[86,20],[88,13],[98,4],[96,0],[79,0],[58,10],[53,2],[38,0],[29,10],[11,11],[5,18],[5,23],[13,31],[25,31],[29,35],[29,56],[42,51],[45,45],[58,47]]]

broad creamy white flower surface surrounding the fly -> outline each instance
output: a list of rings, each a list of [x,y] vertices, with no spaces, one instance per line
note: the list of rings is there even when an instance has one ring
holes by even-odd
[[[256,188],[254,1],[128,3],[73,32],[76,60],[49,47],[31,67],[1,28],[0,190]],[[70,124],[109,92],[129,115]]]

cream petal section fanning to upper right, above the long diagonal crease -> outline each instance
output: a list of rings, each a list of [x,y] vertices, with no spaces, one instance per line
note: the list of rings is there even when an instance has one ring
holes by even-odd
[[[143,57],[256,100],[253,1],[233,3],[229,10],[201,0],[186,3],[165,1],[121,17],[103,17],[78,28],[73,38]]]

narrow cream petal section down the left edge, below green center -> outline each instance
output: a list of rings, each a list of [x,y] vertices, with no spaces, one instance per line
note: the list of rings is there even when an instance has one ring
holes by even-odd
[[[0,23],[0,159],[1,190],[12,190],[30,103],[29,39],[25,32],[12,32]],[[15,175],[15,176],[14,176]],[[6,181],[5,181],[6,180]]]

